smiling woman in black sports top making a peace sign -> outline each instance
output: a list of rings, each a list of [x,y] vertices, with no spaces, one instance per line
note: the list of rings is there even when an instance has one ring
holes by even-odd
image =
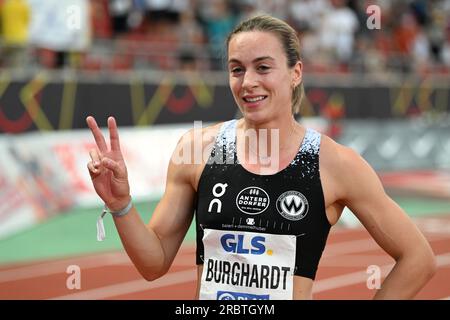
[[[147,280],[167,272],[195,214],[197,298],[311,299],[329,230],[347,206],[396,261],[374,298],[414,297],[436,268],[424,236],[356,152],[294,119],[302,92],[295,31],[257,16],[237,26],[227,49],[243,117],[180,139],[177,150],[190,150],[200,137],[207,156],[179,163],[174,152],[147,225],[132,206],[114,118],[110,147],[87,118],[97,143],[92,182],[139,272]]]

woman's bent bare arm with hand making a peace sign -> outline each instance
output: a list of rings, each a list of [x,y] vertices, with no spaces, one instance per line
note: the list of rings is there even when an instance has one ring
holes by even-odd
[[[116,122],[112,117],[108,119],[108,148],[94,118],[88,117],[86,121],[97,144],[97,148],[89,152],[91,161],[88,163],[94,189],[111,211],[120,211],[131,197]],[[167,272],[192,222],[194,170],[193,165],[175,164],[171,159],[166,190],[148,225],[134,206],[126,215],[114,216],[128,256],[147,280],[157,279]]]

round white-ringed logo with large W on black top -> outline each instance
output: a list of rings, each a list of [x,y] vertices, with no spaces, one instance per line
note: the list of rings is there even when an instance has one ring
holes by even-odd
[[[277,210],[286,219],[298,221],[309,210],[308,199],[298,191],[286,191],[277,199]]]

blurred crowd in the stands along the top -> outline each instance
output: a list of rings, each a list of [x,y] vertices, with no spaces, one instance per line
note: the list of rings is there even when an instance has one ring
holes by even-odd
[[[298,31],[308,72],[450,73],[450,0],[0,0],[0,67],[223,70],[257,13]]]

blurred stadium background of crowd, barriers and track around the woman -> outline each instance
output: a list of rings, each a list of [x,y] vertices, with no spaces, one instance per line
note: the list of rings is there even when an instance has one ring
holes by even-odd
[[[380,9],[380,28],[368,23],[376,18],[370,5]],[[223,45],[257,12],[299,33],[298,121],[360,152],[394,200],[444,244],[433,248],[448,271],[449,0],[0,0],[0,298],[69,295],[68,261],[83,266],[78,258],[122,252],[110,218],[106,240],[96,241],[101,203],[86,169],[86,116],[103,127],[109,115],[118,120],[133,197],[148,220],[180,135],[194,121],[239,116]],[[360,225],[345,212],[336,228]],[[191,228],[191,266],[193,240]],[[58,261],[67,263],[55,269]],[[448,280],[440,282],[424,298],[449,297]],[[189,288],[139,298],[192,298]]]

